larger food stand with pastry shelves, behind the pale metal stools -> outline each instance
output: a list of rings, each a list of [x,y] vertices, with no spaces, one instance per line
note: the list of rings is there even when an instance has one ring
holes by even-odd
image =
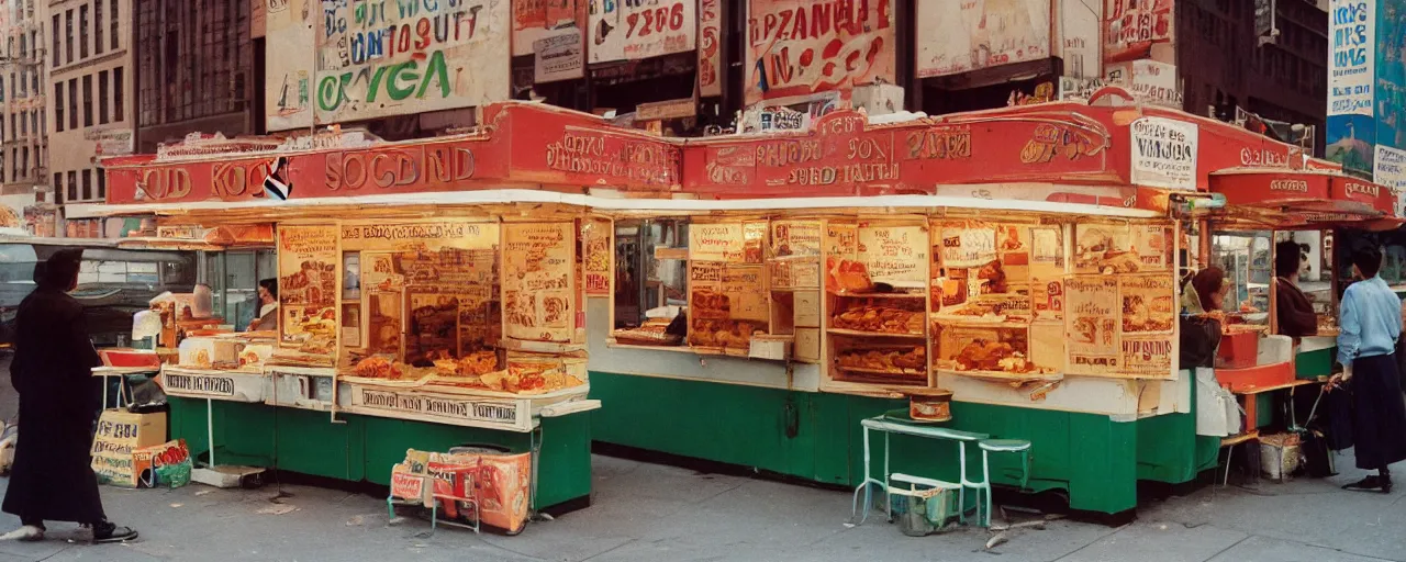
[[[688,260],[690,332],[640,346],[640,329],[596,322],[609,302],[591,303],[592,395],[607,403],[596,440],[855,486],[860,420],[950,396],[927,410],[950,417],[942,427],[1032,441],[1028,489],[1076,509],[1123,513],[1139,479],[1192,479],[1215,447],[1195,452],[1175,371],[1177,188],[1126,180],[1140,117],[838,112],[807,133],[686,142],[683,190],[706,200],[633,214],[692,221],[686,249],[655,251]],[[759,291],[727,281],[755,264]],[[742,312],[758,295],[765,318]],[[785,361],[759,350],[773,337],[790,339]],[[893,447],[896,472],[956,481],[952,454]],[[1004,459],[993,478],[1021,482]]]

